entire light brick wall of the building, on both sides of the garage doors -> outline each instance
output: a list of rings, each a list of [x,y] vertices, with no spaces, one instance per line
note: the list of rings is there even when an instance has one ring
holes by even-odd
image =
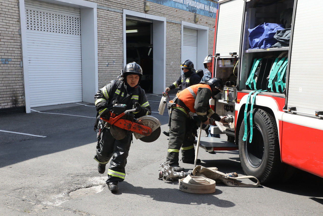
[[[194,13],[152,2],[149,2],[150,10],[144,12],[144,0],[92,0],[92,2],[116,10],[114,12],[97,9],[99,88],[115,79],[123,67],[123,8],[166,17],[166,86],[177,80],[180,76],[181,63],[180,23],[181,21],[194,23]],[[0,57],[11,59],[8,64],[0,62],[0,109],[25,106],[23,69],[20,67],[22,51],[18,0],[2,0],[0,15]],[[214,23],[214,18],[202,15],[199,15],[199,21],[196,23],[209,27],[210,54],[213,50]]]

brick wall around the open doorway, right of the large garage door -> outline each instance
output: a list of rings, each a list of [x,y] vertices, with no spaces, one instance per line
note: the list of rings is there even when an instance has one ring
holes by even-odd
[[[117,10],[128,9],[132,11],[138,11],[141,13],[156,15],[160,17],[166,17],[166,86],[173,83],[181,75],[179,65],[181,63],[181,21],[194,23],[194,13],[184,10],[163,6],[157,3],[149,2],[150,10],[144,11],[143,0],[125,0],[125,1],[113,1],[107,2],[105,0],[94,1],[100,6],[113,8]],[[109,4],[107,4],[109,3]],[[110,19],[110,14],[115,15],[113,20]],[[108,17],[107,17],[108,16]],[[105,21],[99,21],[104,19]],[[99,24],[100,23],[100,24]],[[116,29],[119,34],[116,34],[113,38],[106,39],[105,35],[111,31],[111,24],[113,29]],[[215,18],[205,17],[199,15],[199,21],[195,24],[209,27],[209,54],[213,54],[213,40],[214,40],[214,28]],[[100,25],[100,27],[99,27]],[[104,32],[104,28],[105,31]],[[99,32],[99,29],[103,29]],[[99,39],[102,38],[103,40]],[[111,12],[108,10],[98,9],[98,44],[110,41],[109,44],[99,45],[99,87],[106,85],[111,79],[115,79],[120,74],[123,62],[123,43],[122,43],[122,14],[118,12]],[[105,48],[113,49],[113,54],[104,50]],[[118,56],[120,58],[117,58]],[[117,61],[115,61],[117,60]],[[103,62],[100,62],[103,61]],[[111,62],[115,61],[115,65],[111,66]],[[109,66],[106,63],[109,62]],[[194,63],[196,64],[196,63]],[[205,69],[202,68],[204,71]]]

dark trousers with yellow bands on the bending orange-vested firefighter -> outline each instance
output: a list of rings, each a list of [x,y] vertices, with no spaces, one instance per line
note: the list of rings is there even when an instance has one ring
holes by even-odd
[[[182,150],[182,160],[193,160],[195,158],[194,141],[195,126],[192,119],[181,109],[172,108],[171,126],[166,161],[170,165],[178,165],[179,150]]]

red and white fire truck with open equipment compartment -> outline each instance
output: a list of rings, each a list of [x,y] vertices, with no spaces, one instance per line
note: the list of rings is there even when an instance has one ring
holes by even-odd
[[[225,85],[210,104],[232,122],[216,122],[211,129],[227,140],[202,137],[200,147],[239,150],[245,174],[263,184],[280,179],[290,167],[323,177],[320,5],[319,0],[218,1],[212,76]],[[274,39],[277,26],[283,34],[289,28],[286,43],[267,44],[273,37],[266,33],[269,24]]]

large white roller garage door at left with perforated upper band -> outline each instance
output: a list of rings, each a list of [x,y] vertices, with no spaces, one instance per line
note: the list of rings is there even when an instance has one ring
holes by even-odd
[[[82,101],[80,11],[25,1],[30,107]]]

